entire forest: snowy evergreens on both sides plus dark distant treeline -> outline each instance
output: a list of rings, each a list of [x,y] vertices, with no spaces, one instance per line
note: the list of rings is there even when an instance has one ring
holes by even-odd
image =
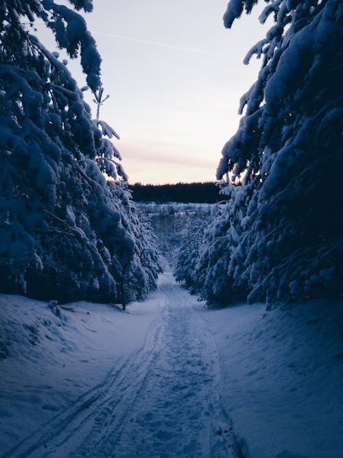
[[[224,25],[231,27],[254,3],[233,0]],[[91,10],[91,1],[71,4]],[[0,14],[1,291],[45,298],[52,290],[62,301],[143,297],[160,267],[154,235],[134,201],[220,200],[226,204],[200,245],[182,250],[177,276],[194,292],[223,305],[236,297],[341,294],[336,0],[274,2],[263,10],[260,21],[272,16],[274,25],[246,56],[246,63],[261,58],[261,70],[241,97],[239,129],[222,150],[219,192],[215,183],[128,185],[112,141],[119,136],[99,119],[101,58],[83,17],[38,0],[15,7],[5,1]],[[30,33],[35,18],[71,58],[80,54],[95,119],[66,62]]]

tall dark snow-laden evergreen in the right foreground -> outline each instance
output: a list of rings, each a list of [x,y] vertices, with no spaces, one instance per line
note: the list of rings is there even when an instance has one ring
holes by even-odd
[[[224,25],[231,27],[255,3],[231,0]],[[217,168],[217,179],[230,178],[222,191],[231,196],[220,217],[226,229],[216,236],[215,220],[198,256],[213,247],[222,267],[208,263],[206,275],[213,282],[226,276],[228,287],[248,290],[250,301],[339,295],[342,2],[267,3],[259,19],[264,23],[272,16],[274,24],[245,59],[261,58],[261,70],[241,98],[239,129]],[[237,182],[241,186],[234,187]]]

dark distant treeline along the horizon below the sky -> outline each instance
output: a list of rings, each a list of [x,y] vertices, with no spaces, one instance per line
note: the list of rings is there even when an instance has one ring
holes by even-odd
[[[129,185],[136,202],[215,203],[224,201],[219,188],[212,181],[206,183],[176,183],[176,185]]]

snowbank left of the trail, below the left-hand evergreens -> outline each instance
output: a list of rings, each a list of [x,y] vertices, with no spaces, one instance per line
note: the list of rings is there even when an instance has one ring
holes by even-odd
[[[56,308],[0,295],[0,456],[144,345],[160,303]]]

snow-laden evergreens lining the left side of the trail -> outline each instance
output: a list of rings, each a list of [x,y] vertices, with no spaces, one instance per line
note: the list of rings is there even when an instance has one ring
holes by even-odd
[[[90,12],[92,1],[69,3],[74,10],[52,0],[0,5],[0,289],[115,301],[130,277],[139,297],[159,267],[152,247],[141,262],[146,231],[123,185],[118,136],[91,119],[66,62],[29,33],[42,19],[60,48],[80,55],[97,100],[101,58],[75,11]]]

